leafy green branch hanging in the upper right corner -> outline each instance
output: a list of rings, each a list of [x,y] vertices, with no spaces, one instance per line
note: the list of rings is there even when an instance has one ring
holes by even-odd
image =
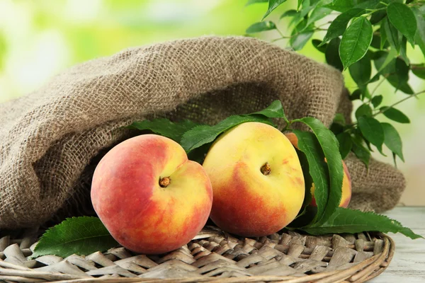
[[[283,2],[268,1],[266,15]],[[399,134],[389,123],[379,122],[379,117],[409,123],[409,117],[394,106],[425,93],[415,93],[409,86],[411,74],[425,79],[425,63],[412,64],[407,50],[409,42],[412,47],[419,46],[425,56],[424,4],[424,0],[298,0],[296,7],[280,16],[292,18],[293,30],[289,36],[279,31],[280,38],[275,40],[287,38],[293,50],[301,50],[316,33],[321,33],[319,38],[323,40],[313,39],[312,45],[324,53],[327,64],[349,72],[357,84],[358,89],[350,96],[350,100],[361,100],[355,110],[356,121],[334,121],[330,127],[339,140],[343,158],[353,151],[368,166],[373,146],[382,155],[382,146],[386,146],[404,161]],[[407,97],[385,105],[384,98],[390,93],[376,93],[383,81]],[[371,89],[370,83],[375,82],[378,85]]]

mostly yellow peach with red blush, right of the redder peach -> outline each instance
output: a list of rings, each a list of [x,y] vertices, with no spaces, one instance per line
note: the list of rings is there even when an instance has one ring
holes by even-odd
[[[212,144],[203,163],[214,192],[210,218],[239,236],[283,229],[301,209],[304,176],[297,153],[278,129],[246,122]]]

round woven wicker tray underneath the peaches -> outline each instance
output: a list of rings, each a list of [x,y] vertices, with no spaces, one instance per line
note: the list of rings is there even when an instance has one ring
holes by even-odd
[[[113,248],[28,260],[33,232],[21,239],[0,238],[0,282],[365,282],[385,270],[395,249],[382,233],[288,231],[235,238],[207,226],[187,246],[161,256]]]

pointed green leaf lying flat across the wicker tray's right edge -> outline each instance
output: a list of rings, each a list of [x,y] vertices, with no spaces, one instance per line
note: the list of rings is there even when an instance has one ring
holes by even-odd
[[[402,233],[412,239],[423,238],[387,216],[343,207],[338,207],[335,213],[321,226],[303,228],[302,230],[312,235],[380,231],[382,233]]]

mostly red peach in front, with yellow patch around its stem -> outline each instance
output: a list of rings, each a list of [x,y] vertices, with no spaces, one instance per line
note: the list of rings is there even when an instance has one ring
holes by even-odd
[[[145,134],[123,141],[98,163],[91,201],[118,243],[160,254],[185,245],[212,206],[210,179],[175,141]]]

